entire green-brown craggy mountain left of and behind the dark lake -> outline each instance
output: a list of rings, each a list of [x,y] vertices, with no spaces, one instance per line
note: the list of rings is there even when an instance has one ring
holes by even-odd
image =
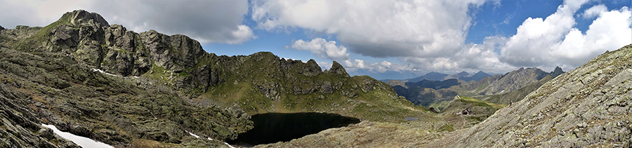
[[[0,27],[0,55],[0,147],[75,146],[41,124],[117,147],[228,147],[259,113],[402,122],[429,112],[338,62],[322,71],[269,52],[215,55],[188,36],[136,33],[87,11]]]

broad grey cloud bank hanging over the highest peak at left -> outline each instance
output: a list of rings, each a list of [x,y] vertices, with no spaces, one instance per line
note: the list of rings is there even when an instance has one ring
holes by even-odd
[[[99,13],[135,32],[185,34],[202,43],[243,43],[256,38],[242,25],[248,1],[2,1],[0,25],[46,26],[68,11]]]

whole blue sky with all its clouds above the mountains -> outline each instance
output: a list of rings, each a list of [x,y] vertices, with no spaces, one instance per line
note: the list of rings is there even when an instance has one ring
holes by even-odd
[[[0,0],[0,26],[46,26],[83,9],[134,32],[190,36],[217,55],[270,51],[279,58],[314,59],[323,69],[336,61],[352,75],[407,79],[427,72],[503,74],[520,67],[569,71],[632,43],[631,3]]]

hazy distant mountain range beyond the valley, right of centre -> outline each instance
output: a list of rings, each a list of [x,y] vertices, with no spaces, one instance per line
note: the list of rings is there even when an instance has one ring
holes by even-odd
[[[529,92],[562,73],[564,72],[560,67],[556,67],[553,72],[544,72],[538,68],[520,68],[494,76],[485,72],[461,72],[453,75],[430,72],[415,79],[390,80],[386,83],[393,86],[397,95],[425,107],[434,107],[433,105],[442,101],[452,100],[456,95],[478,97],[480,100],[508,105],[521,100]],[[422,80],[417,81],[419,79]]]

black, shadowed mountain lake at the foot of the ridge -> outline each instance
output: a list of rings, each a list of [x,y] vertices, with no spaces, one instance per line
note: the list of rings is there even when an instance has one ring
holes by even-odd
[[[239,134],[236,140],[228,141],[229,144],[251,147],[256,144],[288,142],[328,128],[360,123],[360,119],[340,114],[313,112],[255,114],[251,120],[254,121],[254,128]]]

